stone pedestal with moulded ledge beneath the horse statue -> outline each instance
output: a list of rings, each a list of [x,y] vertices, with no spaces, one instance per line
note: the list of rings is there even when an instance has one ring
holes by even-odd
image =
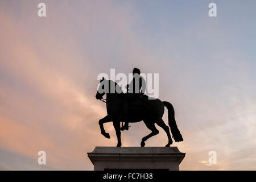
[[[179,171],[185,153],[177,147],[95,147],[88,153],[94,171],[162,169]]]

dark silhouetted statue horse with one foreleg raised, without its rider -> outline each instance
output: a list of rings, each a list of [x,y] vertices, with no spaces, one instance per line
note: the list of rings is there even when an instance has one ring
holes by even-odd
[[[105,86],[105,89],[104,89]],[[109,88],[106,89],[106,86]],[[112,88],[114,92],[110,92]],[[101,89],[101,90],[100,90]],[[101,92],[99,92],[99,90]],[[105,90],[105,91],[102,91]],[[112,90],[113,91],[113,90]],[[106,138],[110,138],[109,133],[106,133],[103,124],[107,122],[113,122],[113,126],[115,129],[115,133],[117,135],[117,147],[121,147],[121,129],[120,122],[122,121],[122,99],[125,94],[122,92],[120,86],[112,81],[105,80],[102,78],[100,80],[100,86],[98,87],[96,98],[97,100],[102,100],[103,96],[106,94],[106,109],[108,115],[104,118],[100,119],[98,122],[101,129],[101,134]],[[151,130],[151,133],[146,135],[146,137],[142,138],[141,146],[145,146],[145,142],[147,139],[157,135],[159,131],[155,127],[155,123],[162,127],[166,132],[168,137],[168,143],[166,147],[170,147],[172,144],[172,138],[170,134],[170,129],[164,123],[162,117],[164,114],[164,106],[168,109],[168,124],[171,128],[172,138],[174,138],[175,142],[183,141],[182,135],[180,134],[179,129],[177,128],[175,117],[174,117],[174,107],[170,102],[160,101],[159,99],[148,99],[148,96],[144,95],[141,98],[136,98],[134,101],[129,102],[128,107],[128,121],[129,123],[140,122],[143,121],[148,129]]]

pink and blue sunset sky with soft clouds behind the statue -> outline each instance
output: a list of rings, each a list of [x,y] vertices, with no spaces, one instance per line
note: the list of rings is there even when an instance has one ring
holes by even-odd
[[[256,1],[216,0],[212,18],[210,2],[1,0],[0,169],[92,170],[86,153],[117,144],[112,123],[112,139],[100,133],[97,76],[137,67],[159,73],[159,98],[174,105],[181,170],[255,170]],[[157,128],[146,146],[167,143]],[[122,146],[148,133],[133,123]]]

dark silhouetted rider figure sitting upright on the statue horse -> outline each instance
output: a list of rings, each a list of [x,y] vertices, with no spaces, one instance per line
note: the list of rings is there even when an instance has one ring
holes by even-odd
[[[133,69],[133,80],[131,80],[130,84],[126,85],[127,93],[123,98],[123,122],[125,125],[121,127],[121,130],[128,130],[129,129],[129,122],[128,122],[128,102],[134,100],[141,96],[141,94],[145,93],[146,90],[146,81],[142,76],[140,76],[141,71],[138,68]]]

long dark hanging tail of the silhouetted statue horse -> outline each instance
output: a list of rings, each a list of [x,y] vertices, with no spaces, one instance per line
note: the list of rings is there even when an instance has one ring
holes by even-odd
[[[177,128],[177,124],[174,117],[174,107],[170,102],[163,101],[163,105],[168,109],[168,124],[171,128],[172,138],[174,138],[175,142],[183,141],[182,135],[180,134],[179,129]]]

